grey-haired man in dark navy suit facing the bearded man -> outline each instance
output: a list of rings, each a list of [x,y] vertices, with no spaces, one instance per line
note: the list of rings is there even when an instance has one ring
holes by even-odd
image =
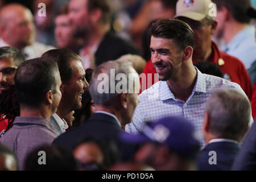
[[[116,80],[119,76],[121,81]],[[138,104],[138,73],[129,62],[108,61],[94,70],[89,92],[96,112],[82,126],[60,135],[53,144],[73,149],[85,137],[104,137],[114,140],[121,159],[130,159],[133,147],[121,142],[118,134],[131,122]]]

